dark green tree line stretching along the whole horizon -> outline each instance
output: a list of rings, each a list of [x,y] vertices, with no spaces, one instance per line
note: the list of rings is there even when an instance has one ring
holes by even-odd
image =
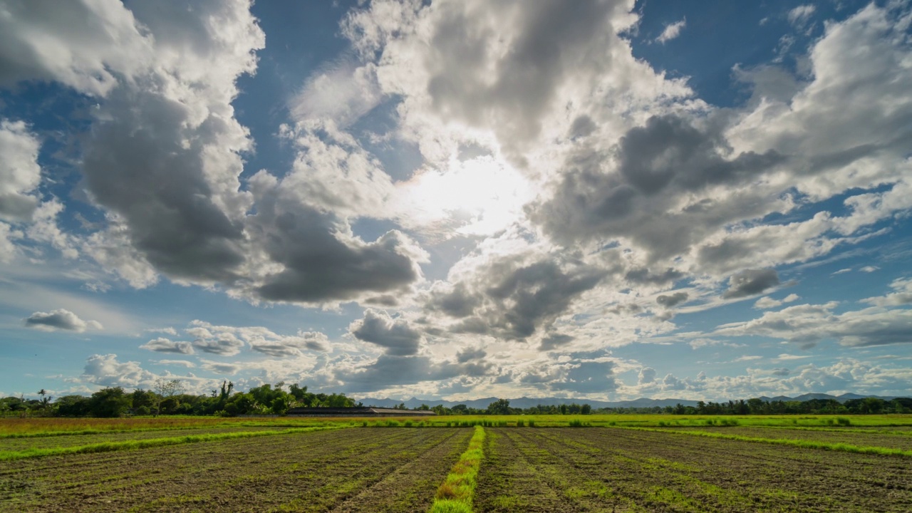
[[[287,389],[287,390],[286,390]],[[0,415],[44,415],[61,417],[119,417],[133,415],[284,415],[295,407],[352,407],[362,403],[345,393],[311,393],[307,387],[292,383],[265,383],[247,392],[234,391],[234,383],[225,381],[218,390],[209,394],[185,393],[181,380],[157,380],[150,390],[138,388],[127,392],[122,387],[107,387],[85,395],[64,395],[56,400],[44,389],[38,399],[23,396],[0,399]],[[394,406],[405,410],[405,403]],[[900,397],[885,401],[877,397],[850,399],[839,403],[834,399],[809,401],[766,401],[752,398],[725,403],[705,403],[696,406],[648,408],[597,408],[583,403],[538,404],[529,408],[510,406],[507,399],[498,399],[486,408],[472,408],[465,404],[452,407],[421,404],[415,410],[430,410],[439,415],[587,415],[587,414],[676,414],[676,415],[785,415],[785,414],[908,414],[912,413],[912,398]]]

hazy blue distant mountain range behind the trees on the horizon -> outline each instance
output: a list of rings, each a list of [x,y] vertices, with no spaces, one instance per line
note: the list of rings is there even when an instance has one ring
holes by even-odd
[[[882,396],[882,395],[858,395],[857,393],[844,393],[842,395],[830,395],[828,393],[804,393],[796,397],[788,397],[786,395],[777,395],[775,397],[766,397],[761,396],[760,399],[763,401],[811,401],[812,399],[834,399],[840,403],[845,403],[850,399],[865,399],[865,397],[876,397],[878,399],[883,399],[884,401],[892,401],[896,399],[895,396]],[[361,403],[364,403],[365,406],[377,406],[380,408],[392,408],[400,403],[405,403],[406,408],[417,408],[421,404],[427,404],[430,407],[437,406],[442,404],[447,408],[452,408],[457,404],[465,404],[470,408],[475,408],[483,410],[488,407],[488,404],[491,404],[497,401],[497,397],[484,397],[482,399],[470,399],[468,401],[440,401],[434,399],[418,399],[412,397],[406,400],[398,399],[378,399],[375,397],[366,397],[360,399]],[[513,408],[532,408],[542,404],[544,406],[556,406],[559,404],[589,404],[593,408],[654,408],[658,406],[659,408],[664,408],[666,406],[675,406],[677,404],[682,404],[684,406],[696,406],[697,401],[690,401],[689,399],[647,399],[645,397],[640,399],[634,399],[630,401],[593,401],[589,399],[571,399],[566,397],[518,397],[516,399],[510,399],[510,405]]]

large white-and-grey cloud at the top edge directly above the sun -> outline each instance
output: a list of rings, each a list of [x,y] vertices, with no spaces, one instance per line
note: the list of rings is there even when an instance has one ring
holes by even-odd
[[[622,91],[688,94],[630,55],[618,33],[636,21],[623,3],[382,1],[349,13],[342,32],[377,67],[380,89],[400,99],[401,134],[430,162],[477,129],[524,167],[534,141],[565,137],[580,115],[615,108]]]

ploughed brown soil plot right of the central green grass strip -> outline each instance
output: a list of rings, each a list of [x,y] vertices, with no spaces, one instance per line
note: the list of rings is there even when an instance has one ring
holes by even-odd
[[[907,458],[610,428],[489,429],[479,511],[912,511]]]

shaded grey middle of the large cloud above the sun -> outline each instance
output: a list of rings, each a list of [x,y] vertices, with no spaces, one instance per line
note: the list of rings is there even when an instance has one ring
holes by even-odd
[[[484,14],[512,27],[513,37],[495,39],[491,21],[476,19],[477,10],[440,5],[429,56],[432,108],[448,119],[493,126],[505,147],[533,139],[562,83],[576,72],[597,72],[606,48],[620,47],[611,17],[621,9],[611,2],[573,9],[559,0],[505,3]],[[504,51],[490,51],[495,41]]]

